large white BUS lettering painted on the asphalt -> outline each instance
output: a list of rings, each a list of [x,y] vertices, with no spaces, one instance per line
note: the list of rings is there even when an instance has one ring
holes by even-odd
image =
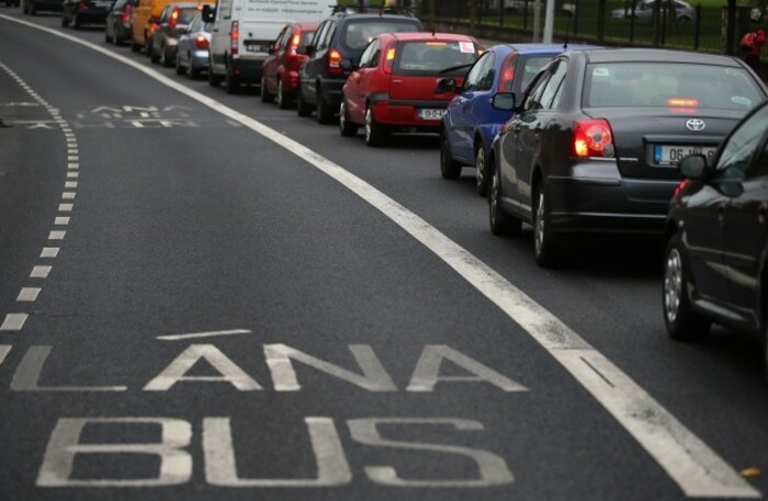
[[[205,481],[226,488],[306,488],[339,487],[352,481],[353,472],[345,453],[334,419],[308,417],[304,419],[317,466],[313,478],[242,478],[238,470],[247,465],[238,465],[235,440],[229,418],[204,418],[202,448],[205,462]],[[83,443],[83,431],[88,425],[144,425],[160,426],[160,440],[154,443]],[[388,440],[381,436],[379,425],[442,426],[458,432],[482,431],[477,421],[453,418],[365,418],[347,421],[352,440],[372,448],[397,448],[420,451],[439,455],[459,455],[472,460],[479,478],[429,478],[405,479],[392,466],[363,467],[369,480],[374,483],[410,488],[478,488],[511,483],[515,478],[507,463],[488,451],[466,446],[428,444],[403,440]],[[249,426],[252,429],[252,426]],[[290,433],[289,435],[293,435]],[[136,488],[163,487],[187,483],[193,476],[193,456],[188,451],[192,444],[192,424],[171,418],[63,418],[58,420],[45,451],[37,476],[37,486],[47,488]],[[114,472],[103,477],[82,478],[76,472],[77,456],[124,455],[134,462],[160,459],[159,468],[153,476],[144,478],[121,478]],[[437,459],[436,459],[437,460]],[[239,467],[238,467],[239,466]]]

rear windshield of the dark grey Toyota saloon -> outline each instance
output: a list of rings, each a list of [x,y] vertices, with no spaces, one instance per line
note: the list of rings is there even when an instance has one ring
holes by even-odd
[[[764,99],[743,68],[684,62],[607,62],[587,67],[583,105],[749,110]]]

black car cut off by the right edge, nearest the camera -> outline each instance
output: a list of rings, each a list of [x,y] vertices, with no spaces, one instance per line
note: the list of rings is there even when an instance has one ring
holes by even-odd
[[[680,171],[686,180],[669,207],[664,260],[669,335],[697,340],[718,322],[766,341],[768,103],[713,158],[686,157]]]

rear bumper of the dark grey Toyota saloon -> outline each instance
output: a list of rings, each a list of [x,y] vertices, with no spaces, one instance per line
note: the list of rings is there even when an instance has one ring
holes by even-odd
[[[547,177],[551,224],[562,232],[663,234],[679,181],[622,178],[611,161]]]

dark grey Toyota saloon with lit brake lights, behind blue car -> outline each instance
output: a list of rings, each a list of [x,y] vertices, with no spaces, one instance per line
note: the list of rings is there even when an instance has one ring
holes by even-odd
[[[522,100],[496,94],[515,116],[489,156],[490,230],[534,227],[534,255],[562,257],[568,234],[656,234],[677,162],[711,156],[768,89],[739,59],[655,49],[571,52]]]

